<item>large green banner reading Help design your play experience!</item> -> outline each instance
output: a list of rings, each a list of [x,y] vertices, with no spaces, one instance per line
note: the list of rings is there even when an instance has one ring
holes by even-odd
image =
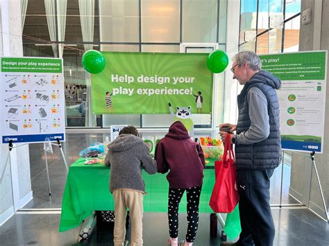
[[[92,75],[94,114],[169,114],[168,103],[174,108],[191,106],[196,113],[198,91],[203,114],[210,114],[208,54],[102,53],[106,68]]]

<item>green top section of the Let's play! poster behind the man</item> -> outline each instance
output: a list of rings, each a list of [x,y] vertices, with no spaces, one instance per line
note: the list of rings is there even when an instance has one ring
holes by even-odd
[[[280,80],[324,80],[326,75],[326,53],[281,53],[260,55],[262,69]]]

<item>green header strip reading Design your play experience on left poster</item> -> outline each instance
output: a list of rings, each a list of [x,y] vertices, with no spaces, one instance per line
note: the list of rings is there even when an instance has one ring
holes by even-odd
[[[62,73],[62,59],[1,58],[2,72]]]

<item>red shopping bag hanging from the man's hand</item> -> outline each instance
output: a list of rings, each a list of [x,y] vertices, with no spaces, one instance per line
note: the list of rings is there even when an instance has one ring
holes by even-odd
[[[239,202],[235,172],[235,157],[230,143],[230,134],[226,135],[223,158],[214,162],[216,181],[209,205],[215,213],[231,213]]]

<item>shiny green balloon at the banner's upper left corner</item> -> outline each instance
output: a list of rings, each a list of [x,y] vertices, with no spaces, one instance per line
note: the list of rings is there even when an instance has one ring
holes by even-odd
[[[105,68],[106,60],[101,52],[89,50],[83,53],[82,64],[90,73],[101,73]]]

